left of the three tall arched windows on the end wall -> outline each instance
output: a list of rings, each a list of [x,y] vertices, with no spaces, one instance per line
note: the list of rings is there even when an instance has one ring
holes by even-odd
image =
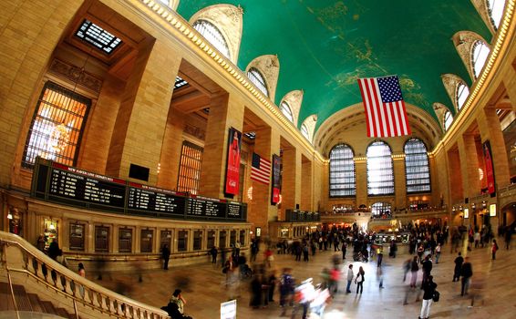
[[[330,151],[330,197],[355,196],[353,149],[338,144]]]

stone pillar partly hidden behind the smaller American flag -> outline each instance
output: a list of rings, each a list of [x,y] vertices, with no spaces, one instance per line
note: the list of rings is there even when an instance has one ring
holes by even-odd
[[[270,127],[257,129],[254,139],[254,152],[265,160],[271,160],[273,154],[280,153],[280,136]],[[276,206],[271,205],[271,183],[263,184],[252,180],[253,201],[248,213],[248,221],[254,227],[262,227],[262,236],[268,234],[268,221],[273,221],[278,214]]]

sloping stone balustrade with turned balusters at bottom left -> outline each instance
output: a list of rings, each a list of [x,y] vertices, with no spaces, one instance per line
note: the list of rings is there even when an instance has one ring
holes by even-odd
[[[45,253],[40,252],[29,242],[13,233],[0,232],[0,245],[18,247],[23,253],[23,262],[25,263],[23,272],[30,273],[39,282],[57,290],[59,290],[57,288],[59,284],[62,288],[61,293],[66,294],[67,297],[72,298],[79,304],[84,304],[118,318],[170,318],[165,311],[159,308],[139,303],[119,293],[114,293],[97,283],[88,281],[88,279],[70,271],[59,262],[52,260]],[[9,261],[4,262],[7,272],[20,271],[9,267]]]

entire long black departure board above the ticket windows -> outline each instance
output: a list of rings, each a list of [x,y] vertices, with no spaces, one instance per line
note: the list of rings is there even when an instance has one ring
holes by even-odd
[[[33,197],[88,209],[192,220],[246,221],[247,206],[164,190],[79,170],[52,160],[36,160]]]

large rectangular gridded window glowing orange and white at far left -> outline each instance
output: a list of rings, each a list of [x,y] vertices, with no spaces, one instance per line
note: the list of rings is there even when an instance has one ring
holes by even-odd
[[[22,166],[33,169],[36,157],[75,166],[91,100],[46,82],[26,139]]]

